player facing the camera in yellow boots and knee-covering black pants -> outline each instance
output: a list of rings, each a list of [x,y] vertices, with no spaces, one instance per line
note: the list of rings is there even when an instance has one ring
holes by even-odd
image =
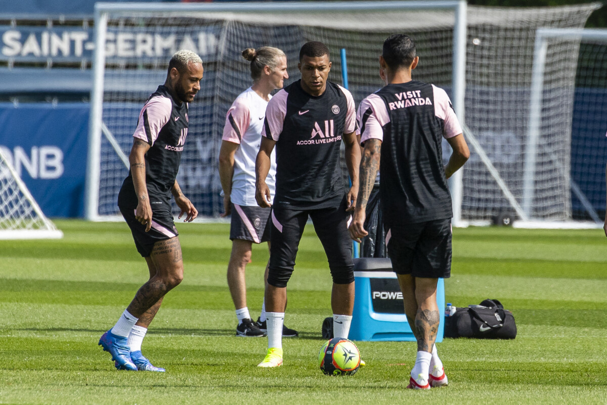
[[[333,277],[334,336],[348,337],[354,305],[354,265],[347,226],[347,211],[356,204],[361,158],[354,100],[344,87],[327,81],[331,61],[325,44],[304,44],[297,67],[301,80],[280,90],[268,103],[255,168],[257,203],[272,206],[270,270],[265,292],[268,353],[259,367],[282,364],[287,282],[308,217],[322,242]],[[339,166],[342,140],[352,181],[348,192]],[[274,146],[276,196],[272,200],[266,177]]]

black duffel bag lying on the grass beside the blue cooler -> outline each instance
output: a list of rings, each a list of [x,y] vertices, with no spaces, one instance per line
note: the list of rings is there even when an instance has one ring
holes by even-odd
[[[497,299],[486,299],[480,305],[456,308],[445,318],[446,338],[514,339],[517,325],[514,316]]]

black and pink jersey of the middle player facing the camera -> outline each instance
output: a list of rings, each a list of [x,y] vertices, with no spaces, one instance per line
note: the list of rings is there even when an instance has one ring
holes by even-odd
[[[325,92],[314,97],[298,80],[274,95],[262,129],[276,141],[274,205],[339,205],[345,195],[339,146],[342,135],[356,128],[354,99],[338,84],[327,81]]]

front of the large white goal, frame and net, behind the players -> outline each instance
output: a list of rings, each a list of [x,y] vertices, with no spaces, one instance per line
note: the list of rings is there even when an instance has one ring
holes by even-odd
[[[222,201],[216,161],[225,112],[251,84],[239,58],[242,49],[271,45],[285,50],[292,82],[299,77],[299,47],[323,41],[333,61],[329,80],[339,83],[339,49],[345,47],[350,91],[359,103],[382,87],[377,73],[382,41],[407,32],[427,63],[418,79],[446,88],[463,117],[466,9],[464,0],[95,4],[86,218],[118,216],[116,195],[127,168],[117,147],[128,154],[138,110],[163,83],[166,64],[178,48],[198,52],[205,67],[202,89],[190,106],[188,148],[178,181],[203,216],[217,217]],[[452,189],[460,190],[454,200],[461,199],[461,177]],[[459,206],[454,204],[454,222]]]

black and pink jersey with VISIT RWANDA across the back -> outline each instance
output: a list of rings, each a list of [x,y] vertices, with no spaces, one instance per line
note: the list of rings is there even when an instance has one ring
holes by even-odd
[[[362,101],[357,118],[362,144],[382,141],[385,224],[451,218],[441,143],[462,131],[445,90],[416,80],[388,84]]]

